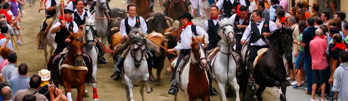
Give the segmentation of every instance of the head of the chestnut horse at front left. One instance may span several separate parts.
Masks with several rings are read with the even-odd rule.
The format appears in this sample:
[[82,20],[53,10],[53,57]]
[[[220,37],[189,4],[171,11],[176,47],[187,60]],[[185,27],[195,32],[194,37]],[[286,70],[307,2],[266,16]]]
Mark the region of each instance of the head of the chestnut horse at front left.
[[[83,32],[79,31],[77,33],[70,32],[69,39],[71,40],[69,42],[68,47],[68,55],[73,55],[74,57],[74,66],[82,66],[83,63],[83,47],[85,45],[84,40],[82,39]],[[71,64],[70,64],[71,65]]]

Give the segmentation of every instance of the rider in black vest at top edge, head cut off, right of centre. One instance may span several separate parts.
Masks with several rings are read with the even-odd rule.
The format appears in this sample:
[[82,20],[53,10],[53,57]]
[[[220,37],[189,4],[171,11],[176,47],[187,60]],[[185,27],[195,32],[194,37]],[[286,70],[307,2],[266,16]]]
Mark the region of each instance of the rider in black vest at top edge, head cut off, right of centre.
[[230,18],[232,13],[236,13],[238,5],[246,6],[246,2],[244,0],[219,0],[216,3],[219,9],[222,9],[223,6],[223,17],[225,18]]

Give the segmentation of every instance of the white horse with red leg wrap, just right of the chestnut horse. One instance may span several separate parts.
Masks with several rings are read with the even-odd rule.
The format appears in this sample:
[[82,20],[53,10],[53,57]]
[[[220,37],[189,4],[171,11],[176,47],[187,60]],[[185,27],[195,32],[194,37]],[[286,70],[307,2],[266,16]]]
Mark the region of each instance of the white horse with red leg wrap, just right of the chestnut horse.
[[[97,75],[97,56],[98,56],[98,49],[93,45],[94,38],[93,38],[93,32],[92,30],[95,29],[94,27],[94,18],[93,19],[86,19],[86,24],[83,29],[84,32],[84,40],[87,42],[87,48],[84,48],[84,52],[88,54],[92,58],[92,65],[93,65],[93,78],[96,78]],[[97,93],[97,84],[93,83],[92,88],[95,89],[95,92],[93,91],[93,95]],[[85,96],[88,96],[87,88],[85,88]],[[94,101],[99,101],[98,97],[93,96]]]

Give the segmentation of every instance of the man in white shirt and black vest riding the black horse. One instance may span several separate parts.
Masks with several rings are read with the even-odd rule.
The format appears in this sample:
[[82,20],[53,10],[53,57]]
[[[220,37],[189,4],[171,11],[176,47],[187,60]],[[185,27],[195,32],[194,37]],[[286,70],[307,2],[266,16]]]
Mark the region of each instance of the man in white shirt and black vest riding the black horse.
[[260,10],[254,10],[251,14],[253,23],[248,25],[245,29],[240,44],[244,45],[250,42],[251,48],[247,59],[247,74],[248,74],[248,86],[254,86],[253,79],[253,62],[258,55],[258,50],[262,48],[268,48],[269,45],[265,41],[265,37],[268,37],[274,30],[277,29],[276,24],[273,21],[263,19]]

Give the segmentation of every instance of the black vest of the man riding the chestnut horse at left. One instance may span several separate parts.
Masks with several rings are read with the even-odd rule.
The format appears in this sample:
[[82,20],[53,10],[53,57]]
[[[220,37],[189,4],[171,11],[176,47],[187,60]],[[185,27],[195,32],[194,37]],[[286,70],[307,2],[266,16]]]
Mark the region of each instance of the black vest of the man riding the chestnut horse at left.
[[[62,22],[62,20],[60,20],[59,22]],[[72,29],[74,28],[74,23],[70,22],[70,25],[68,28],[69,28],[69,31],[73,32]],[[64,45],[64,40],[68,38],[68,36],[70,35],[68,28],[61,28],[59,32],[56,32],[56,37],[54,39],[54,42],[60,45]]]

